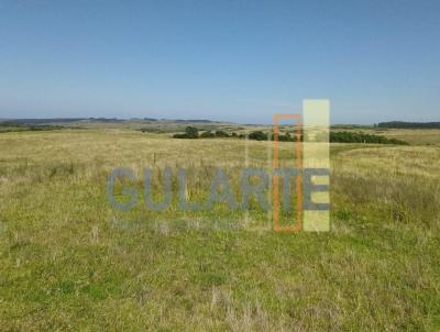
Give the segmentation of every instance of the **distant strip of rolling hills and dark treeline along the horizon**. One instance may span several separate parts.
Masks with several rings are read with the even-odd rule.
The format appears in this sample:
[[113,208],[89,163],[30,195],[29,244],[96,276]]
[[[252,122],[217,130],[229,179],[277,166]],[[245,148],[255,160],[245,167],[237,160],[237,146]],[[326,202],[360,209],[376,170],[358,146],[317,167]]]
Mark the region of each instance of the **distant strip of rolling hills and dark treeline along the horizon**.
[[[157,120],[144,119],[107,119],[107,118],[58,118],[58,119],[0,119],[0,133],[15,131],[50,131],[61,129],[124,129],[145,133],[173,134],[184,133],[188,128],[196,128],[200,134],[204,132],[226,132],[232,137],[243,137],[252,132],[272,130],[267,124],[238,124],[233,122],[219,122],[210,120]],[[285,126],[287,129],[288,126]],[[283,130],[283,126],[282,126]],[[290,132],[293,129],[290,128]],[[438,145],[440,137],[440,122],[380,122],[371,125],[334,124],[332,133],[366,134],[386,140],[397,140],[403,143],[416,145]],[[200,135],[204,139],[204,135]],[[209,136],[205,136],[209,137]],[[333,139],[333,140],[332,140]],[[359,137],[348,137],[342,143],[359,143]],[[351,140],[351,141],[350,141]],[[330,142],[339,142],[337,135],[330,136]],[[362,142],[364,140],[361,139]],[[369,142],[365,142],[369,143]],[[389,143],[393,143],[389,142]],[[398,142],[394,142],[397,143]]]

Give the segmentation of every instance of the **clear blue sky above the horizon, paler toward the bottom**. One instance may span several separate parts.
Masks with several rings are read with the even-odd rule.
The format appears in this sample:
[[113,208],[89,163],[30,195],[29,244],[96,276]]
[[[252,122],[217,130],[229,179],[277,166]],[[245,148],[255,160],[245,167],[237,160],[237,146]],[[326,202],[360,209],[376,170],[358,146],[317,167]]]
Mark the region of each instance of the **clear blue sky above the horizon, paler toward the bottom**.
[[0,118],[440,121],[440,1],[0,0]]

